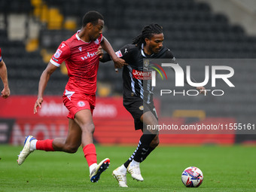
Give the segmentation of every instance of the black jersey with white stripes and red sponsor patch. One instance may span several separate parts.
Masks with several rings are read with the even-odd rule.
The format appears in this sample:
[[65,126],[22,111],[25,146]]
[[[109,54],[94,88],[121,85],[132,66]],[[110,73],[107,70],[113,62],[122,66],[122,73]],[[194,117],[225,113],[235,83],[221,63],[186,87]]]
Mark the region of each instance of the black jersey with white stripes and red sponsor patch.
[[145,67],[144,59],[171,59],[174,62],[175,57],[172,52],[162,47],[159,53],[147,55],[141,47],[126,44],[116,54],[128,64],[123,66],[123,101],[137,96],[148,104],[153,102],[154,87],[151,86],[151,75],[147,74],[148,69]]

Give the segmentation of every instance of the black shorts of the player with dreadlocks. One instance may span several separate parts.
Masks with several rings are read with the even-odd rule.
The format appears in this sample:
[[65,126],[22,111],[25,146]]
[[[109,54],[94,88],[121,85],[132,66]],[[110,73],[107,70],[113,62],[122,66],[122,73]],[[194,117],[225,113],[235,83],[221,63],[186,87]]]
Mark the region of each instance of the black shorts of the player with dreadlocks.
[[145,112],[151,111],[151,113],[154,114],[154,117],[158,120],[154,102],[151,102],[150,104],[143,103],[143,100],[140,97],[134,96],[133,99],[123,98],[123,106],[133,115],[135,130],[143,130],[143,123],[140,118]]

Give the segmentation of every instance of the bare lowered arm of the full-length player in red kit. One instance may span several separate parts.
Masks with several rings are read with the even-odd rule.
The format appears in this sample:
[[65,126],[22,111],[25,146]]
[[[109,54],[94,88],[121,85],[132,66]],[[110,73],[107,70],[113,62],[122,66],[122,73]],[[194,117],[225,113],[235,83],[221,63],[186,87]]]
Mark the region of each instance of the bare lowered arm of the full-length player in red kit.
[[41,78],[38,84],[38,99],[34,105],[34,114],[38,112],[37,108],[41,108],[41,104],[44,101],[43,94],[47,86],[47,83],[50,79],[50,75],[57,69],[57,66],[54,66],[51,62],[48,63],[47,68],[44,69],[44,72],[41,74]]

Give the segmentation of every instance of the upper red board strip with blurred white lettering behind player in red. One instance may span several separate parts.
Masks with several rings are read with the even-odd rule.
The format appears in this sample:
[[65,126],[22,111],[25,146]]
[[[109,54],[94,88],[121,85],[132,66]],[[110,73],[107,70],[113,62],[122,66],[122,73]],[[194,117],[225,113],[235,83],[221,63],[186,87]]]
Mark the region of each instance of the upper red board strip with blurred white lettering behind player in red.
[[[68,110],[62,103],[61,96],[44,96],[44,102],[38,109],[38,114],[33,113],[36,96],[11,96],[0,99],[0,117],[40,118],[40,117],[66,117]],[[97,98],[93,117],[127,117],[129,112],[123,108],[121,97]]]

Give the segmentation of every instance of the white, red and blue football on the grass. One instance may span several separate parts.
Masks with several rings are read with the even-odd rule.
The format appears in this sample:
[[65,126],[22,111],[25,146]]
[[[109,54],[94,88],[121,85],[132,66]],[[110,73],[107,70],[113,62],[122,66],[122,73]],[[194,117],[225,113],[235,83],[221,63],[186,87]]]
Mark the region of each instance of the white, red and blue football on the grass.
[[186,187],[199,187],[203,182],[203,172],[195,166],[189,166],[182,172],[181,181]]

